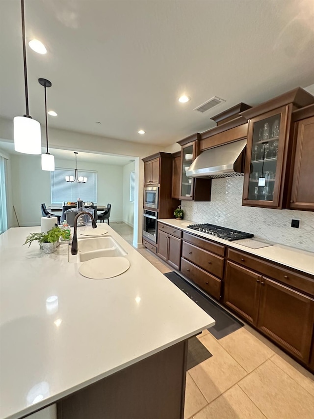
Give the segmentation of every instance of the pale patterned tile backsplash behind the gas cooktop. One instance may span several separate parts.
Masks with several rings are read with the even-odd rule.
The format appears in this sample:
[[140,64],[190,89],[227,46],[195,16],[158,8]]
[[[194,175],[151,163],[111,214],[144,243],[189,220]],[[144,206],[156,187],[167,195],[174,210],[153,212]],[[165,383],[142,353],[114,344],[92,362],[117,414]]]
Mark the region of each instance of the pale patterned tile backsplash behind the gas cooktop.
[[[243,179],[213,179],[211,202],[182,201],[184,218],[194,223],[230,227],[253,233],[256,238],[314,251],[314,212],[243,207]],[[197,205],[197,211],[194,205]],[[291,227],[292,218],[301,219],[300,228]]]

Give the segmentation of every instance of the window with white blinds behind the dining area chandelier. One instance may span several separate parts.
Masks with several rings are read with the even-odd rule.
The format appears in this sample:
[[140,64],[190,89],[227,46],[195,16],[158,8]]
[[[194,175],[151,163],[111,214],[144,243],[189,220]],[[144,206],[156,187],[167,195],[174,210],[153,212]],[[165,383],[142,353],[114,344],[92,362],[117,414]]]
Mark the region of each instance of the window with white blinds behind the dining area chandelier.
[[51,203],[75,202],[81,198],[84,202],[97,203],[97,171],[78,170],[79,176],[86,176],[86,183],[66,182],[65,176],[75,176],[74,169],[56,168],[51,172]]

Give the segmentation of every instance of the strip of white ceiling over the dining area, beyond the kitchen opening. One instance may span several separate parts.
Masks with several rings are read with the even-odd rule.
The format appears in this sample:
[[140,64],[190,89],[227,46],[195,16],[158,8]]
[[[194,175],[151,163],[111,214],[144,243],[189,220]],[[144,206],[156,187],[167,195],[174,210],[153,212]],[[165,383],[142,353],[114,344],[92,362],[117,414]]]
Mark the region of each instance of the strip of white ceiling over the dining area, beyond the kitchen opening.
[[[17,156],[25,156],[25,154],[18,153],[17,151],[14,150],[14,144],[12,142],[0,141],[0,150],[6,151],[8,154],[14,154]],[[46,153],[45,147],[42,147],[42,152]],[[74,167],[75,156],[74,156],[73,151],[50,148],[49,152],[54,155],[55,159],[73,161],[73,167]],[[134,161],[134,157],[114,156],[114,155],[95,154],[95,153],[83,153],[83,152],[78,153],[78,166],[79,166],[79,162],[100,163],[100,164],[114,165],[114,166],[125,166],[131,163],[131,161]]]

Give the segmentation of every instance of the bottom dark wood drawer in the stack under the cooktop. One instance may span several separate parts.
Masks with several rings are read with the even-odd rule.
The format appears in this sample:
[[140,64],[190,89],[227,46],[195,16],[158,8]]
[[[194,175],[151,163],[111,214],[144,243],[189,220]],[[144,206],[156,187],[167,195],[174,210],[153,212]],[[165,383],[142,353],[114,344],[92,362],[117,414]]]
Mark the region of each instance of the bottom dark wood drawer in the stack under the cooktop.
[[217,300],[220,299],[221,280],[213,277],[203,269],[181,259],[181,272],[185,277],[192,279],[200,288]]

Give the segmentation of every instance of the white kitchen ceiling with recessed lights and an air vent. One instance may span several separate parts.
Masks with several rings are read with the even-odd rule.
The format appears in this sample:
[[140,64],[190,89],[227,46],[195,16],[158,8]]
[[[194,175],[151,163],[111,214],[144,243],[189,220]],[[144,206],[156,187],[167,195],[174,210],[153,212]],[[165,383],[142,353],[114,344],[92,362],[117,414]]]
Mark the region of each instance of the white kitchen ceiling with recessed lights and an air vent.
[[[37,80],[48,78],[52,127],[167,145],[238,102],[314,83],[313,0],[25,0],[25,9],[27,41],[48,49],[27,45],[30,114],[44,121]],[[0,16],[0,115],[11,118],[25,113],[20,0],[1,0]],[[190,102],[178,102],[183,93]],[[226,102],[193,111],[214,95]]]

